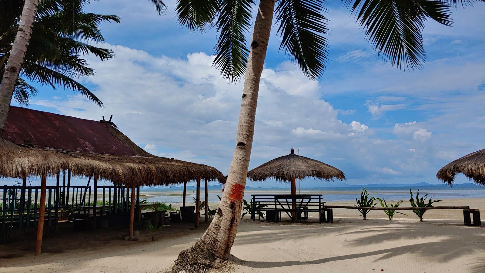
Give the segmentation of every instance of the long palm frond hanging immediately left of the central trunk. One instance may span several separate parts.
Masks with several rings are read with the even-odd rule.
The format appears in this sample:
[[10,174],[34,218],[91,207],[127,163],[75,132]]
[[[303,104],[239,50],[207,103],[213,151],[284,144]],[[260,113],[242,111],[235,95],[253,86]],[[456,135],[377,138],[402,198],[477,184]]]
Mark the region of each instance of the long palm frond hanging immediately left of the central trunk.
[[213,65],[227,80],[237,82],[246,69],[248,49],[245,34],[251,27],[253,0],[226,0],[216,22],[219,39]]

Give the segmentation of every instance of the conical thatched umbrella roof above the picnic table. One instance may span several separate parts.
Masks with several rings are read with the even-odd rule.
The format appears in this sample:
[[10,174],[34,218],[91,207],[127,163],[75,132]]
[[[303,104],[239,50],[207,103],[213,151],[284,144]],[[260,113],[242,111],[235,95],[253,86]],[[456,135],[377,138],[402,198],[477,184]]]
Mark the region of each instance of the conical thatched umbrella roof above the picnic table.
[[324,180],[345,180],[339,169],[321,161],[291,153],[270,160],[247,173],[253,181],[264,181],[268,178],[290,182],[291,178],[304,179],[307,176]]

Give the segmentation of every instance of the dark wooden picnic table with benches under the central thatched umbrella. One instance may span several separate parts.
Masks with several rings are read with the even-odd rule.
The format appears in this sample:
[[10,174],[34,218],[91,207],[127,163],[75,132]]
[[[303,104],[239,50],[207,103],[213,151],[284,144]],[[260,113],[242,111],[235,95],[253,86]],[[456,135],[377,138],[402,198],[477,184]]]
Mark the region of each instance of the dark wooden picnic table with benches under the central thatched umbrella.
[[256,208],[252,215],[253,221],[256,221],[256,212],[265,211],[266,221],[278,222],[281,220],[281,214],[286,213],[291,220],[301,222],[302,219],[308,219],[309,212],[316,212],[319,214],[319,221],[325,222],[325,202],[322,201],[322,194],[252,194],[251,196]]

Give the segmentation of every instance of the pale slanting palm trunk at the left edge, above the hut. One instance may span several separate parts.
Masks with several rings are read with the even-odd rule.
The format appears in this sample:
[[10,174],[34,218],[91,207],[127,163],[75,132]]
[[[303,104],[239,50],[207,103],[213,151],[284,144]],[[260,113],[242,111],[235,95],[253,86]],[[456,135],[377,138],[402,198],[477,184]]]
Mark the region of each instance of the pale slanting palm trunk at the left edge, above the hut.
[[29,45],[38,4],[39,0],[25,0],[17,35],[8,57],[7,67],[3,73],[0,85],[0,136],[3,136],[12,94],[14,93],[18,73],[24,62],[25,51],[27,51],[27,46]]

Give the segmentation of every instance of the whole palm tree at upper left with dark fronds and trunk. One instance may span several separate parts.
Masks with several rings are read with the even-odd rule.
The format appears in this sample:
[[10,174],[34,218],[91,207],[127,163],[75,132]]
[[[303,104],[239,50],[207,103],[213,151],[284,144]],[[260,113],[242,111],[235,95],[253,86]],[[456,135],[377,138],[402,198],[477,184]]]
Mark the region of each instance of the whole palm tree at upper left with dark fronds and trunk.
[[[162,14],[161,0],[150,0]],[[119,23],[113,15],[85,13],[90,0],[4,0],[0,2],[0,134],[14,98],[27,105],[37,90],[19,74],[41,85],[64,87],[102,106],[102,102],[73,78],[91,76],[83,54],[101,60],[114,57],[113,51],[89,43],[104,42],[99,31],[103,21]],[[22,8],[23,7],[23,8]],[[21,14],[21,15],[20,15]],[[18,30],[18,31],[17,31]],[[29,41],[30,40],[30,41]]]

